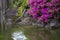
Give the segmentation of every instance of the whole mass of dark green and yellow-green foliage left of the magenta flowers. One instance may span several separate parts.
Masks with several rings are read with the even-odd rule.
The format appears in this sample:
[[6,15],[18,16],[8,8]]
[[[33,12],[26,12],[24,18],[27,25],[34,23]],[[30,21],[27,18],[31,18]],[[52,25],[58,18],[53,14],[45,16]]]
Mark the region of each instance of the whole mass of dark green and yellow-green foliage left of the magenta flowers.
[[18,9],[18,14],[17,16],[23,15],[24,9],[26,9],[27,6],[27,0],[11,0],[9,1],[10,7],[11,8],[17,8]]

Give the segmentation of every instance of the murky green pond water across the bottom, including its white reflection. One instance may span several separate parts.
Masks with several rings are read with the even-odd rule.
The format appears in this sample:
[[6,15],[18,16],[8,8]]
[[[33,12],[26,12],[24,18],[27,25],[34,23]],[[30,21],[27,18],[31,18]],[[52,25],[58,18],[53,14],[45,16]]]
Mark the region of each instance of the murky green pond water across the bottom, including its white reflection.
[[[1,29],[1,28],[0,28]],[[42,40],[41,35],[48,35],[49,40],[60,40],[60,30],[41,31],[43,29],[36,29],[35,26],[13,26],[7,28],[3,33],[0,30],[0,40]],[[41,33],[41,34],[40,34]],[[47,37],[47,38],[48,38]],[[44,38],[44,37],[43,37]]]

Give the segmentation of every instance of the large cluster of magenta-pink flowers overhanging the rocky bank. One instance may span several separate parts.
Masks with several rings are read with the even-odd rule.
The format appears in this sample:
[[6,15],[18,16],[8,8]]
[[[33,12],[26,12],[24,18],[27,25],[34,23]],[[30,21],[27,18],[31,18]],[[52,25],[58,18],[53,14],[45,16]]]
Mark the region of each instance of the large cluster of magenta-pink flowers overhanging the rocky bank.
[[48,22],[60,10],[59,0],[28,0],[28,5],[30,9],[28,9],[27,13],[40,22]]

